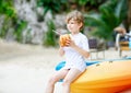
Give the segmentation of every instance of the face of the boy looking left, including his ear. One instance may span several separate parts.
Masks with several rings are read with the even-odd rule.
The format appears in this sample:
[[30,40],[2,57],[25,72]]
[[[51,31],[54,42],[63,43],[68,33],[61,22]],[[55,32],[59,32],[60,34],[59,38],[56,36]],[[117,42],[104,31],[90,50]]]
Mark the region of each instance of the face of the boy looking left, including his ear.
[[72,33],[72,34],[76,34],[80,32],[80,28],[82,26],[82,23],[78,23],[74,20],[70,20],[67,24],[68,30]]

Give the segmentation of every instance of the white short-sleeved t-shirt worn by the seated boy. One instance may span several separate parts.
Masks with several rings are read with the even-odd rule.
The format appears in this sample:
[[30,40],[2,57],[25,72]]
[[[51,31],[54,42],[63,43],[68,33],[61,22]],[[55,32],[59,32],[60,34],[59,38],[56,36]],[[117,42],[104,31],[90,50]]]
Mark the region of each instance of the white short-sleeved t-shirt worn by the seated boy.
[[[90,51],[88,39],[82,33],[76,35],[71,35],[71,39],[74,40],[75,45],[83,48],[86,51]],[[66,67],[63,69],[76,68],[80,71],[84,71],[86,68],[85,59],[76,50],[71,47],[63,47],[66,54]]]

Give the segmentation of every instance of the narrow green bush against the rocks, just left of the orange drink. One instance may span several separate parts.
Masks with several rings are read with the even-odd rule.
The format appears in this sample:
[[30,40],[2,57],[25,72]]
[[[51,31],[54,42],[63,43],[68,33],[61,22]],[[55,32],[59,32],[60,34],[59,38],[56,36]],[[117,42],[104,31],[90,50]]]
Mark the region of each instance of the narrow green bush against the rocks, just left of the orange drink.
[[45,46],[56,46],[56,34],[53,33],[52,30],[56,30],[55,27],[55,23],[52,22],[52,20],[49,20],[47,22],[47,26],[48,26],[48,31],[45,33],[44,36],[44,45]]

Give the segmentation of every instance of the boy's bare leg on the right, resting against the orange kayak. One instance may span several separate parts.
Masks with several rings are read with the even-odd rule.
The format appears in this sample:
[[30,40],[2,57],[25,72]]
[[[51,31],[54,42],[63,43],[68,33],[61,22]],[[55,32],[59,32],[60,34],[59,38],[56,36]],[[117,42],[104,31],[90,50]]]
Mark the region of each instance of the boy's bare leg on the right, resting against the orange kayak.
[[63,93],[70,93],[70,84],[81,74],[82,72],[75,68],[72,68],[63,80]]

